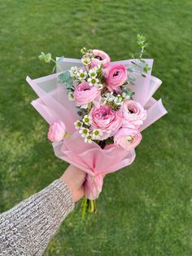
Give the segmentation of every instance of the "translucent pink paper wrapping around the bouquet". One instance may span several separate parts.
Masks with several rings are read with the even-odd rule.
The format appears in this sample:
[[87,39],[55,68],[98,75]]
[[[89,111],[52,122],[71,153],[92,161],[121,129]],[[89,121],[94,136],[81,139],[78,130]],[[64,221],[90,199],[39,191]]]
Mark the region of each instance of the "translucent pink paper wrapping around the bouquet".
[[[149,59],[146,62],[152,68],[153,60]],[[114,63],[129,67],[131,60],[121,60]],[[59,65],[62,66],[63,70],[68,70],[72,66],[82,66],[81,60],[69,58],[64,58]],[[85,196],[94,200],[102,191],[105,175],[131,165],[136,156],[135,151],[128,152],[115,145],[102,149],[97,143],[84,142],[74,126],[74,121],[79,119],[76,106],[74,102],[68,100],[65,86],[58,82],[59,70],[57,72],[33,80],[30,77],[26,78],[28,84],[39,97],[33,100],[32,105],[50,125],[55,121],[63,121],[68,133],[72,134],[71,137],[63,139],[62,142],[53,143],[55,156],[85,171],[87,174]],[[140,131],[151,126],[152,123],[167,113],[161,99],[152,98],[161,83],[158,78],[149,73],[146,77],[137,77],[135,84],[130,86],[131,90],[135,92],[133,99],[142,104],[147,111],[147,118],[140,127]]]

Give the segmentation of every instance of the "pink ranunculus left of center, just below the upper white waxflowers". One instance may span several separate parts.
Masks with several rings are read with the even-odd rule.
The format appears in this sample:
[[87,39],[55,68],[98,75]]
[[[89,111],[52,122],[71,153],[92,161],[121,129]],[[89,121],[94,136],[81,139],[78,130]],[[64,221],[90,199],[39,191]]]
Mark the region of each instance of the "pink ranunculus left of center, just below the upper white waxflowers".
[[76,105],[82,106],[89,104],[94,101],[94,99],[100,96],[100,90],[96,86],[89,86],[89,82],[82,82],[74,91],[74,99],[76,101]]

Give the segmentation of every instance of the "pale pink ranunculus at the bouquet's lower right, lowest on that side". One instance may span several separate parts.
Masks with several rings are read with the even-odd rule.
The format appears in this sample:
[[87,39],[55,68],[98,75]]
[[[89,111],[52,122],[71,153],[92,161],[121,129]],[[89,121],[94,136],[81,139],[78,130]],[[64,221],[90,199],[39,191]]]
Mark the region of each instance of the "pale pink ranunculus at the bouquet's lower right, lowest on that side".
[[114,143],[126,150],[131,150],[141,142],[142,135],[133,128],[121,128],[114,136]]

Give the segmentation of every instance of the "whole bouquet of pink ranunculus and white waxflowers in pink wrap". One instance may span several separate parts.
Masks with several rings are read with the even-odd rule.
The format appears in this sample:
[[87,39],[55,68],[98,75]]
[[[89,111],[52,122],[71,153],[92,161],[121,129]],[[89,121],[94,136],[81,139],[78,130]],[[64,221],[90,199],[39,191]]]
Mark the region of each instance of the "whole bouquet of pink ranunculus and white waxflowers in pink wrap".
[[153,60],[142,59],[148,46],[137,35],[140,48],[131,60],[111,62],[104,51],[81,49],[81,60],[51,58],[55,74],[27,82],[37,92],[34,108],[50,124],[48,139],[56,157],[86,173],[83,215],[96,211],[95,200],[106,174],[129,166],[142,130],[164,116],[161,99],[152,98],[161,81],[151,76]]

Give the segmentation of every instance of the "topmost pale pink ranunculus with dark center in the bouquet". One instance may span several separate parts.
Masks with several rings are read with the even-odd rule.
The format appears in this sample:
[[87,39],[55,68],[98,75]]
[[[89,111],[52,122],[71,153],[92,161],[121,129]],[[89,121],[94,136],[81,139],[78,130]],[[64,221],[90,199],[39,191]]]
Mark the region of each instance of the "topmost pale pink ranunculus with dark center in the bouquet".
[[93,50],[94,58],[91,60],[91,67],[103,65],[103,68],[107,68],[110,64],[110,57],[104,51]]

